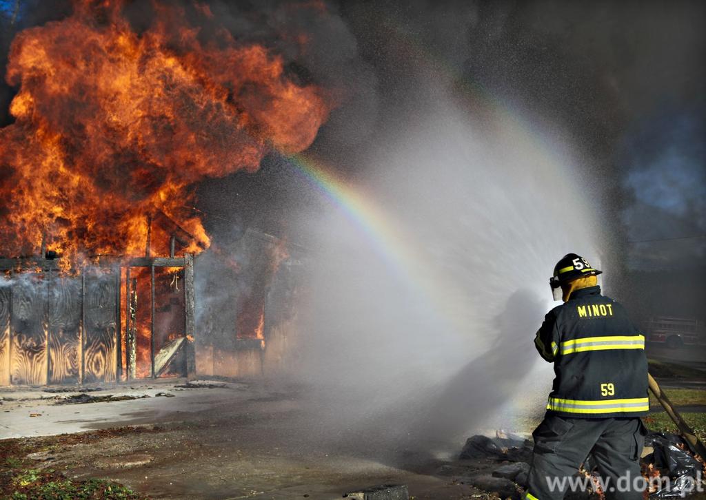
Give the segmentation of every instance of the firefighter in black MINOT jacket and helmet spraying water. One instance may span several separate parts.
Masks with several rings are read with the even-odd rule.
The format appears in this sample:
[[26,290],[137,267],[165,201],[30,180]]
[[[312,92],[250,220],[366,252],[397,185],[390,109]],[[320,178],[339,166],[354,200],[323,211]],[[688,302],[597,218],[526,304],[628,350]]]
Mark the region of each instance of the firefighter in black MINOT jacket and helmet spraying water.
[[647,430],[640,415],[650,408],[645,337],[622,305],[601,294],[598,274],[570,253],[549,281],[554,300],[564,303],[544,317],[534,345],[554,363],[556,377],[544,420],[532,432],[525,499],[563,499],[589,454],[606,499],[642,499],[639,460]]

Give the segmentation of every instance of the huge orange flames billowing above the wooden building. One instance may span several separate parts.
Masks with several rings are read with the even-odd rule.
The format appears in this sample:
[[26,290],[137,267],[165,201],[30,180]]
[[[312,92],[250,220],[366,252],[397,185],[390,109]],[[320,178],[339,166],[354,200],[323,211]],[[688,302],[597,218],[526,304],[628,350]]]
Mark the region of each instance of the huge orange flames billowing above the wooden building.
[[[159,0],[138,33],[123,6],[77,1],[70,17],[13,41],[7,80],[19,91],[16,122],[0,130],[0,255],[36,254],[42,240],[73,264],[143,255],[157,215],[190,236],[182,250],[198,252],[210,240],[185,208],[190,186],[256,171],[273,149],[305,150],[328,116],[321,91],[289,80],[265,47],[225,29],[205,36]],[[158,229],[152,249],[166,255],[169,231]]]

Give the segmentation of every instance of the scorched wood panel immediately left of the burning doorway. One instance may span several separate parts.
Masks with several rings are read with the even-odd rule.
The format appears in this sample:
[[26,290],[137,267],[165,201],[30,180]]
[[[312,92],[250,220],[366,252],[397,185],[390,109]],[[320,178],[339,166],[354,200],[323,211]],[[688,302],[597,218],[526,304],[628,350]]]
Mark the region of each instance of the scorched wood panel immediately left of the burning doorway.
[[116,372],[116,289],[112,274],[85,275],[83,382],[112,382]]

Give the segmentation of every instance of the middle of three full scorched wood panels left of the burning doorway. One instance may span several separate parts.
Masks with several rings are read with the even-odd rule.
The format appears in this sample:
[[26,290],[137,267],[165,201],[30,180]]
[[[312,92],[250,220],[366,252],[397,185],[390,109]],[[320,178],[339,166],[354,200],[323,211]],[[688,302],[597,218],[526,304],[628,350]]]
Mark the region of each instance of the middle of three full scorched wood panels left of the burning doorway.
[[80,382],[81,280],[49,281],[49,383]]

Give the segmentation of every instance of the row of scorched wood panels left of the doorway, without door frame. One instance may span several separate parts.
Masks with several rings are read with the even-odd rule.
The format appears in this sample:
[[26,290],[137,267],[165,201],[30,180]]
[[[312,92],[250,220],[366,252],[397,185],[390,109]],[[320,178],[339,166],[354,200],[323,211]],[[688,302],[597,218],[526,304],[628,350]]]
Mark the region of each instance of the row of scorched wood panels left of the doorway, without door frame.
[[0,385],[113,382],[112,272],[23,272],[0,286]]

